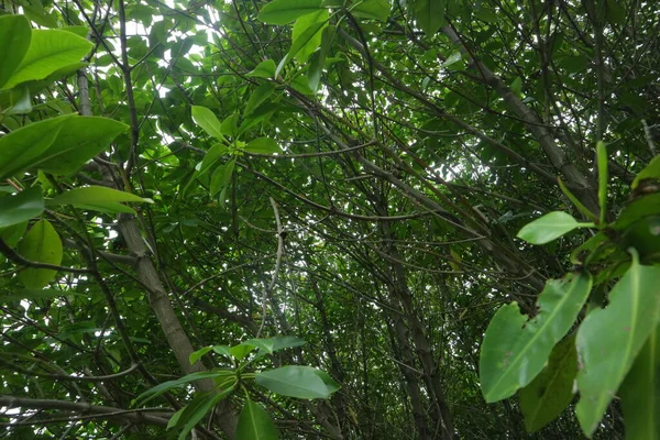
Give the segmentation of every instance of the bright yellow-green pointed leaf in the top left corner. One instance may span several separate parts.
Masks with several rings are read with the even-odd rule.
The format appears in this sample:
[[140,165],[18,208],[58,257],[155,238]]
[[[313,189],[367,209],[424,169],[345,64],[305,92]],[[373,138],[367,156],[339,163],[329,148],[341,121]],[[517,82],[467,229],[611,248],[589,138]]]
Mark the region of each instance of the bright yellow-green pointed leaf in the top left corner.
[[2,89],[44,79],[57,70],[79,63],[92,47],[91,42],[70,32],[55,29],[33,30],[28,53]]

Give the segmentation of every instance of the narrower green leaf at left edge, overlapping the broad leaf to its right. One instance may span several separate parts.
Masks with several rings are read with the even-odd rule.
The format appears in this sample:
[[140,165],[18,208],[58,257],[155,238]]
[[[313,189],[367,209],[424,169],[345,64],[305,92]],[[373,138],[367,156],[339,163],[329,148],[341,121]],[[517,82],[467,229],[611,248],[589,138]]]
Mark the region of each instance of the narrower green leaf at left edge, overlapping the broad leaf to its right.
[[53,145],[62,127],[74,116],[34,122],[0,138],[0,179],[33,166]]

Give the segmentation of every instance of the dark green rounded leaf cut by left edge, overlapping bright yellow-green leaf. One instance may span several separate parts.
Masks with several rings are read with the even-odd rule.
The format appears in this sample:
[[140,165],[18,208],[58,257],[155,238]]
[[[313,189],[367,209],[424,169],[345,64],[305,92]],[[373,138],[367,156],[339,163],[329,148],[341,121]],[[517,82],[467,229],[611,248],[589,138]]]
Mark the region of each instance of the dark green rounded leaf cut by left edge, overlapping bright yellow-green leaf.
[[30,23],[24,16],[0,16],[0,89],[21,65],[30,47]]

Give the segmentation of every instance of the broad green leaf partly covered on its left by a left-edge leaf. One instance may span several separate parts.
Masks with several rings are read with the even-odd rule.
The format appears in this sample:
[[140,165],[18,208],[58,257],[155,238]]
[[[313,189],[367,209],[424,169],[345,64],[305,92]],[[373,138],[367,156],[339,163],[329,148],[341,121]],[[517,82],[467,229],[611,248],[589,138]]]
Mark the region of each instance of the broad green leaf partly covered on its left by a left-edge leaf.
[[[29,125],[31,127],[31,125]],[[72,175],[129,127],[108,118],[67,117],[55,141],[30,164],[44,173]]]

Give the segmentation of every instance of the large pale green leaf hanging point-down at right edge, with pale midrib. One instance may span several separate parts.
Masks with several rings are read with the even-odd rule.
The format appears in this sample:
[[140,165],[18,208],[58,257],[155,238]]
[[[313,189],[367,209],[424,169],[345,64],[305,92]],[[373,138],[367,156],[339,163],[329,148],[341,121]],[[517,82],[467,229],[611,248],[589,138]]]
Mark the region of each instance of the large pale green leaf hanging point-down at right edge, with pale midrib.
[[660,319],[660,267],[632,264],[609,293],[609,305],[586,316],[578,330],[580,402],[575,415],[591,436]]

